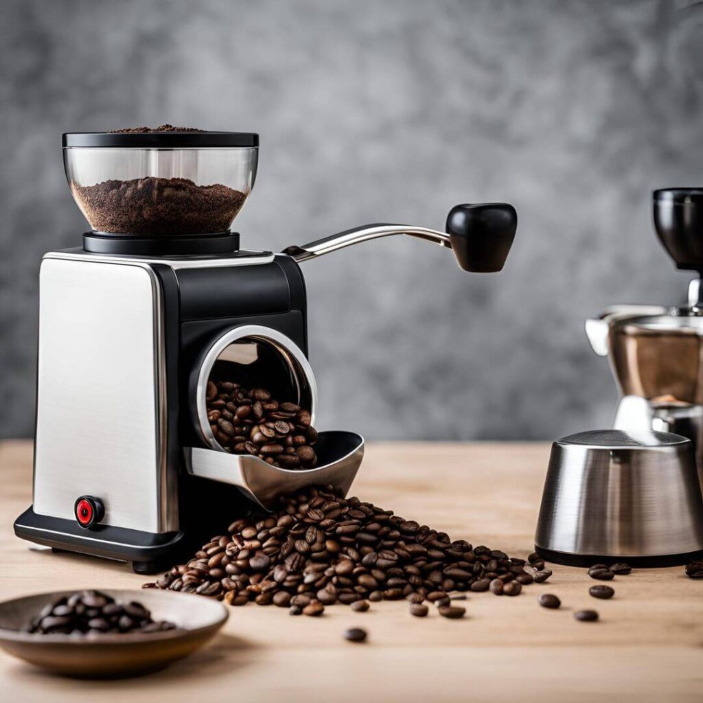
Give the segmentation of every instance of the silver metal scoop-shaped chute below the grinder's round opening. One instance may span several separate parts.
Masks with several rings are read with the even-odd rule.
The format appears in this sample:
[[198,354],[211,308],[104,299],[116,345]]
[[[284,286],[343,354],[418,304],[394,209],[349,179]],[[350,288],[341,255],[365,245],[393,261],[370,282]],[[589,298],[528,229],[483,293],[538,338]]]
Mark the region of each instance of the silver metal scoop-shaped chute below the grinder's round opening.
[[363,437],[356,432],[320,432],[315,451],[320,465],[280,469],[250,454],[186,447],[186,469],[200,478],[237,486],[251,501],[270,510],[280,496],[309,486],[331,485],[346,496],[363,459]]

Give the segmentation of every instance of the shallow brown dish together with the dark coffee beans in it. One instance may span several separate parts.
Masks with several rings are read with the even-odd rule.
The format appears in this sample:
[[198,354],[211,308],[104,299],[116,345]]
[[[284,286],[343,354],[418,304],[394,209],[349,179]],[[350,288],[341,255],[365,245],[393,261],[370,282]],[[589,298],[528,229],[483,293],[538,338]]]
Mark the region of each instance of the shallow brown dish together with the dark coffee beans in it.
[[0,602],[0,647],[67,676],[128,676],[194,652],[227,616],[217,601],[156,589],[37,593]]

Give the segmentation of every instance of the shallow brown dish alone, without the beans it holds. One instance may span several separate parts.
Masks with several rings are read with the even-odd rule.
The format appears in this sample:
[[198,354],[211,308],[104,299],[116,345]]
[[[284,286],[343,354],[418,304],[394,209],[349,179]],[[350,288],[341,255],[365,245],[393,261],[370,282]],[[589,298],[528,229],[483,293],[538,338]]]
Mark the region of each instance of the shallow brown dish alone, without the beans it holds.
[[[76,589],[80,590],[80,589]],[[46,603],[75,591],[53,591],[0,602],[0,647],[13,657],[55,673],[82,678],[114,678],[155,671],[195,652],[223,626],[226,607],[217,600],[173,591],[101,588],[117,602],[136,600],[155,620],[176,629],[155,633],[30,634],[21,632]]]

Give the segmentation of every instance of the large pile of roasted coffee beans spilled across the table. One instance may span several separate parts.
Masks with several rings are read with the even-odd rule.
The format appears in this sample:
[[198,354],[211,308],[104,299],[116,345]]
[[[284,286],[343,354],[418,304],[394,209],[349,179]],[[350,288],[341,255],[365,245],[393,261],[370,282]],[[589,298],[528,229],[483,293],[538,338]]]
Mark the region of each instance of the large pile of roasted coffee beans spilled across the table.
[[[340,498],[328,487],[281,499],[272,515],[236,520],[228,534],[213,537],[188,563],[145,586],[310,616],[334,603],[406,598],[412,614],[423,617],[425,608],[414,606],[427,600],[439,614],[456,618],[464,609],[451,605],[450,593],[489,591],[499,582],[501,595],[518,595],[534,581],[525,566],[392,510]],[[531,570],[538,566],[544,562]]]

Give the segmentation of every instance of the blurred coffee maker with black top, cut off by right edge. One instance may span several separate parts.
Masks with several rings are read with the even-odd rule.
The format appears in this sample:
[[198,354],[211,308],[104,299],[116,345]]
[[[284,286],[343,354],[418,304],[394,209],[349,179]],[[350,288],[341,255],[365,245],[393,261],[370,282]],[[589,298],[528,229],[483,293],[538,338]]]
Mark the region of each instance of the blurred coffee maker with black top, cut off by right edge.
[[688,437],[703,484],[703,188],[654,191],[653,209],[676,268],[697,272],[688,302],[607,307],[586,334],[621,389],[613,427]]

